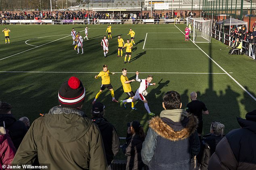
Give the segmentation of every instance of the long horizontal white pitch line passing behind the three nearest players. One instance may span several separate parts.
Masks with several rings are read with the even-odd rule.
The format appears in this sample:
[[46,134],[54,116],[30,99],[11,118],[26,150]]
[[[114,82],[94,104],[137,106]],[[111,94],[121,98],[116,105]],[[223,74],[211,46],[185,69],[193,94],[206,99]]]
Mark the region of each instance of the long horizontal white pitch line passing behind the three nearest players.
[[[0,71],[0,73],[99,73],[99,72],[18,72],[18,71]],[[122,73],[122,72],[113,72],[113,73]],[[129,72],[129,74],[135,74],[136,72]],[[141,74],[226,74],[226,73],[186,73],[186,72],[140,72]]]

